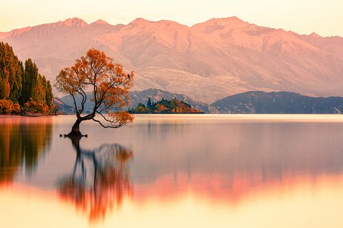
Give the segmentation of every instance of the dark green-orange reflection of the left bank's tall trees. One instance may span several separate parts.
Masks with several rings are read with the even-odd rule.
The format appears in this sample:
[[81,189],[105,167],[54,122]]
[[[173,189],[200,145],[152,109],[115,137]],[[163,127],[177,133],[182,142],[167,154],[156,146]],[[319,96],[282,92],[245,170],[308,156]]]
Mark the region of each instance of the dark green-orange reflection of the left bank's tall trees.
[[0,182],[11,182],[16,171],[31,172],[51,144],[51,119],[0,122]]

